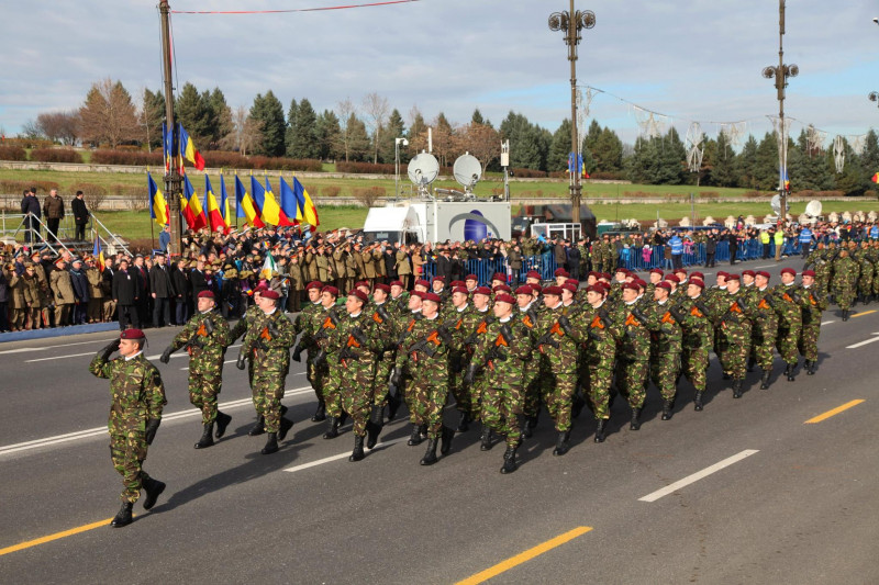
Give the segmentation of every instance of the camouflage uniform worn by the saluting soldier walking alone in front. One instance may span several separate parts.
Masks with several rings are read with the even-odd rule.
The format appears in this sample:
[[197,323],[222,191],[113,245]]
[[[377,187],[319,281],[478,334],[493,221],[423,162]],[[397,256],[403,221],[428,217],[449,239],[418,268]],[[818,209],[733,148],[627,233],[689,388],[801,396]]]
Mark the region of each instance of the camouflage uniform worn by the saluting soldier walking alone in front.
[[109,361],[99,352],[91,360],[89,372],[110,380],[110,457],[125,486],[122,500],[137,502],[143,484],[149,481],[143,470],[148,448],[146,426],[162,419],[167,404],[162,376],[143,352],[127,360],[120,357]]

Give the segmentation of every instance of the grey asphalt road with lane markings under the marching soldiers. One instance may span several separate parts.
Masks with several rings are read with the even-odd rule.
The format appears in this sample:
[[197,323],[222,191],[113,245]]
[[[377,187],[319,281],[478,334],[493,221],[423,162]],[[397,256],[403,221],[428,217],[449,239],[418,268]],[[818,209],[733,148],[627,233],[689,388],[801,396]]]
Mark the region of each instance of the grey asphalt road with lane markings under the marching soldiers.
[[[770,267],[775,283],[785,266],[802,262],[736,270]],[[448,457],[420,466],[423,445],[392,442],[409,435],[399,419],[385,428],[390,445],[349,463],[351,424],[337,439],[322,439],[297,363],[283,401],[296,426],[278,453],[259,454],[265,437],[246,435],[255,415],[233,363],[220,400],[233,417],[226,437],[194,450],[201,427],[188,402],[187,359],[157,361],[177,329],[151,330],[146,353],[156,357],[168,405],[145,469],[168,487],[152,511],[135,505],[130,527],[77,533],[66,532],[109,521],[119,509],[105,434],[109,384],[87,369],[112,335],[3,344],[0,582],[454,583],[589,527],[498,567],[491,583],[876,583],[879,390],[871,367],[879,344],[847,347],[879,337],[874,310],[858,306],[860,316],[847,323],[837,310],[824,313],[814,376],[779,379],[777,359],[769,390],[759,390],[754,372],[744,397],[733,400],[712,356],[702,413],[681,381],[676,414],[663,421],[652,387],[639,431],[628,430],[617,401],[608,440],[596,445],[585,410],[561,458],[552,455],[555,432],[544,413],[512,475],[499,473],[503,445],[481,452],[475,427],[456,436]],[[865,402],[804,424],[854,400]],[[446,413],[447,423],[457,420],[454,409]],[[668,495],[641,499],[736,454]]]

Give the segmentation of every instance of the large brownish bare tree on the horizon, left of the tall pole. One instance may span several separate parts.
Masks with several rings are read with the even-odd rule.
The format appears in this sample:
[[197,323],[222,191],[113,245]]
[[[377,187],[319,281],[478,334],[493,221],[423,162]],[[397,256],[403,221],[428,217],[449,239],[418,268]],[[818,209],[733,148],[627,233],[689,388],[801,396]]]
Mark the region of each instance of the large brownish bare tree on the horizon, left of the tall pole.
[[91,86],[79,109],[82,138],[107,142],[112,148],[137,138],[138,124],[131,94],[122,82],[108,77]]

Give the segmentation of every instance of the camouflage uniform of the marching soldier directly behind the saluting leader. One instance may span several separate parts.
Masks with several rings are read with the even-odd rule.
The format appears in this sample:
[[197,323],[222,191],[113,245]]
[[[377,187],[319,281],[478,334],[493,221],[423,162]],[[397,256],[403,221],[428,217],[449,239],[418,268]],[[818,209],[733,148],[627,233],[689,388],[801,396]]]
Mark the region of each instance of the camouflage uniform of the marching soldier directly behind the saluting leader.
[[223,360],[230,344],[229,323],[215,311],[196,313],[171,341],[170,352],[187,346],[189,402],[201,410],[202,425],[216,419],[216,396],[223,383]]

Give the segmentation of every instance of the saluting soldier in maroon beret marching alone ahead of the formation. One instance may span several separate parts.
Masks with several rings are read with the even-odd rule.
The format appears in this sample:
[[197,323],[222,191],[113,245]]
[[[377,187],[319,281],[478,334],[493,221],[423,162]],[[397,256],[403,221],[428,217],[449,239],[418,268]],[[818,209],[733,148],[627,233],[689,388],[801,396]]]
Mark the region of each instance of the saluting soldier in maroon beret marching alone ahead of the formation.
[[[165,386],[155,365],[143,355],[146,336],[140,329],[125,329],[120,338],[94,356],[89,372],[110,380],[110,455],[122,475],[122,507],[110,526],[121,528],[132,522],[132,507],[146,492],[144,509],[151,509],[165,484],[144,470],[146,452],[162,423],[162,409],[167,404]],[[110,356],[119,350],[120,357]]]

